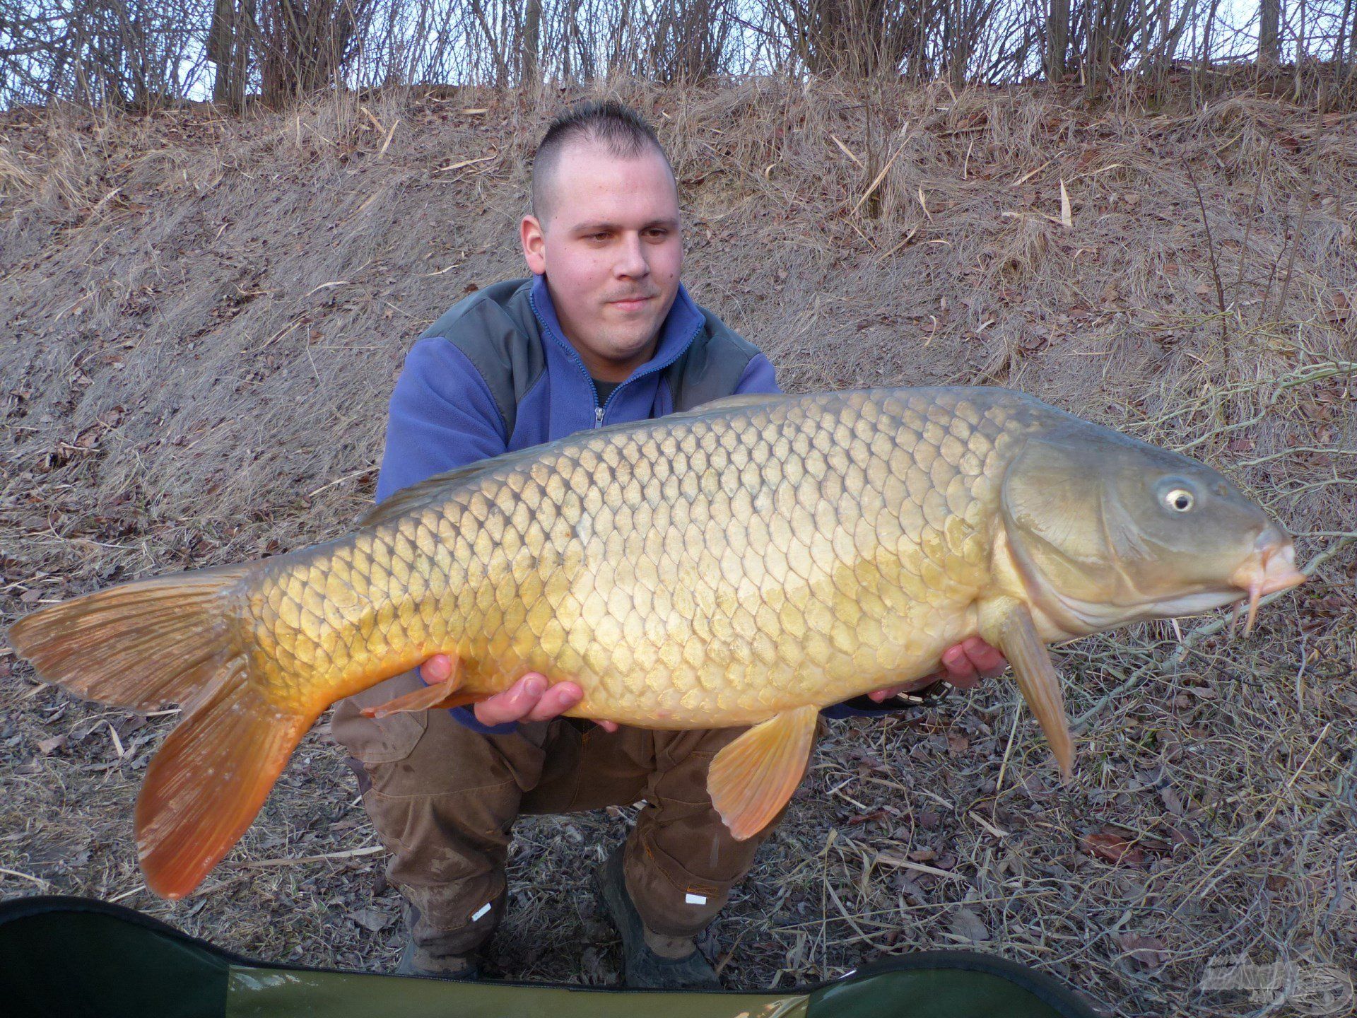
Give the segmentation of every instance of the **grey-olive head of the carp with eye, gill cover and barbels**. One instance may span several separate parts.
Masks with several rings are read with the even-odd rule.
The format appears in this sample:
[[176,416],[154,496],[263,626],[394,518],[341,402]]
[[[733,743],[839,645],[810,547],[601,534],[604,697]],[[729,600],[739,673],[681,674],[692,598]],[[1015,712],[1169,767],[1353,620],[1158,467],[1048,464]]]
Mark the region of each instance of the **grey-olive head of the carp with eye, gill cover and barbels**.
[[1029,440],[1003,485],[1014,561],[1071,635],[1193,615],[1304,581],[1291,538],[1228,478],[1091,425]]

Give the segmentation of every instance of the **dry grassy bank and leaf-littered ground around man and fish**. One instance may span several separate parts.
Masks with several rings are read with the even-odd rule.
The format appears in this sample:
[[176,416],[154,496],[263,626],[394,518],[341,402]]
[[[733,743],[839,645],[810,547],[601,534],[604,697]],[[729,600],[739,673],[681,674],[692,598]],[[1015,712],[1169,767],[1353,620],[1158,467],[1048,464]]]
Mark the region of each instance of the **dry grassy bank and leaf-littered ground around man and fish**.
[[[1148,115],[1134,95],[1084,109],[1053,90],[616,88],[672,145],[689,286],[784,385],[1031,391],[1227,470],[1315,571],[1247,641],[1194,619],[1064,652],[1083,725],[1071,789],[1006,683],[835,725],[711,931],[727,980],[976,943],[1121,1015],[1210,1015],[1261,1006],[1201,991],[1212,957],[1350,966],[1357,118],[1251,98]],[[3,620],[343,532],[413,337],[522,271],[525,153],[558,99],[11,114]],[[323,728],[229,861],[171,905],[140,886],[130,804],[172,718],[73,702],[0,657],[11,671],[0,892],[122,900],[274,960],[389,964],[395,892]],[[623,829],[520,825],[505,970],[613,973],[588,873]],[[261,865],[299,856],[322,858]]]

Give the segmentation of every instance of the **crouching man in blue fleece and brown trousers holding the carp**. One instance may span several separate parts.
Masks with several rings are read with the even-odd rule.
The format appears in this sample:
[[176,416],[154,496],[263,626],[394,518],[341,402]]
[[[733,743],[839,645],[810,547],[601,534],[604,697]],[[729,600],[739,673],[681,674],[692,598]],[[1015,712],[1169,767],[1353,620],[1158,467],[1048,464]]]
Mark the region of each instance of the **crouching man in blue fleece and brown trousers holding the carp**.
[[[379,501],[440,471],[581,429],[778,391],[768,360],[680,285],[673,171],[630,110],[589,105],[551,125],[520,232],[533,278],[463,300],[411,349],[391,399]],[[978,639],[951,647],[944,662],[962,687],[977,671],[1003,668]],[[441,681],[451,665],[436,657],[335,710],[335,737],[361,763],[364,805],[392,852],[388,877],[407,900],[410,941],[398,970],[478,973],[476,951],[503,912],[518,814],[645,799],[598,877],[623,938],[626,981],[716,987],[693,937],[768,833],[735,842],[707,797],[707,764],[741,730],[649,732],[562,718],[579,687],[540,675],[474,710],[358,714]],[[898,692],[829,713],[879,713]]]

